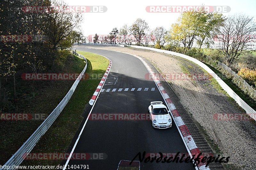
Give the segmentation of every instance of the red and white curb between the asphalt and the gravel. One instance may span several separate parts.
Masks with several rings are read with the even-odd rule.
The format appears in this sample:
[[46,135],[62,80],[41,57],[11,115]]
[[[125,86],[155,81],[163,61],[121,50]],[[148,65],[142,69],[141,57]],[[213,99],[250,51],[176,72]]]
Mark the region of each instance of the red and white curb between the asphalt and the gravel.
[[[158,86],[159,90],[161,91],[161,93],[162,93],[162,95],[164,97],[164,100],[168,104],[168,107],[170,108],[170,110],[172,112],[174,121],[176,122],[177,126],[180,129],[181,135],[183,136],[183,139],[184,139],[185,143],[187,144],[187,147],[188,147],[189,151],[191,152],[191,155],[196,155],[196,157],[197,157],[197,155],[199,155],[200,151],[197,148],[194,139],[190,135],[187,126],[185,125],[185,123],[183,122],[182,118],[180,117],[180,114],[179,114],[178,110],[176,109],[176,107],[174,106],[172,100],[170,99],[170,97],[168,96],[166,91],[164,90],[164,87],[161,85],[159,79],[156,78],[156,76],[154,76],[154,74],[156,74],[156,73],[153,72],[153,70],[149,67],[149,65],[143,59],[141,59],[139,56],[137,56],[137,55],[133,55],[133,56],[139,58],[140,61],[148,69],[149,73],[151,74],[151,77],[154,79],[154,81],[156,82],[156,85]],[[164,78],[163,78],[163,80],[165,81]],[[201,159],[202,158],[203,158],[203,156],[201,156]],[[210,170],[210,168],[208,166],[206,167],[206,163],[201,163],[200,162],[197,165],[197,167],[198,167],[199,170]]]

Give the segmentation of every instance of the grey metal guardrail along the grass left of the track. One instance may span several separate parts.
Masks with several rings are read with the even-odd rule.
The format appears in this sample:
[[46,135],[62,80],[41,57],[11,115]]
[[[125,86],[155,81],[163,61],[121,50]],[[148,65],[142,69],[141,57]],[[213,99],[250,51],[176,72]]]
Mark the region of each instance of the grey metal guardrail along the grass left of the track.
[[[44,122],[36,129],[36,131],[28,138],[28,140],[20,147],[20,149],[12,155],[12,157],[4,164],[1,170],[9,170],[16,169],[15,166],[19,166],[21,162],[26,158],[27,154],[31,152],[39,139],[44,135],[44,133],[51,127],[52,123],[56,120],[56,118],[60,115],[60,112],[67,105],[71,96],[73,95],[76,86],[79,81],[83,77],[86,69],[87,69],[87,60],[83,55],[74,53],[86,61],[84,70],[80,73],[78,78],[75,80],[74,84],[71,86],[70,90],[66,94],[66,96],[60,101],[58,106],[52,111],[52,113],[44,120]],[[11,168],[7,168],[10,166]],[[5,168],[4,168],[5,167]]]

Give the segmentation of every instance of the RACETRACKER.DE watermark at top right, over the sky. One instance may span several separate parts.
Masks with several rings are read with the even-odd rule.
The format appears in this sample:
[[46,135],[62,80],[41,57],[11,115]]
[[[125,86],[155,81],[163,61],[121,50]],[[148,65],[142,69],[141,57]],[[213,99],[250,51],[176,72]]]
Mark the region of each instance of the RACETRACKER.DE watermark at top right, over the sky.
[[230,12],[229,6],[147,6],[147,12],[153,13],[183,13],[186,11],[199,11],[204,8],[206,12]]

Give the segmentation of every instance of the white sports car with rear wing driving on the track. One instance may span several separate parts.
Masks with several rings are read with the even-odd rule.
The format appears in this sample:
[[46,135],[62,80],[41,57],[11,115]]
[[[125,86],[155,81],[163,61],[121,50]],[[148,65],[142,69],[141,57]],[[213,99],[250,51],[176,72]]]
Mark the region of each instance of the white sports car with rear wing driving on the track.
[[148,114],[153,128],[167,129],[172,127],[172,117],[162,101],[152,101],[148,107]]

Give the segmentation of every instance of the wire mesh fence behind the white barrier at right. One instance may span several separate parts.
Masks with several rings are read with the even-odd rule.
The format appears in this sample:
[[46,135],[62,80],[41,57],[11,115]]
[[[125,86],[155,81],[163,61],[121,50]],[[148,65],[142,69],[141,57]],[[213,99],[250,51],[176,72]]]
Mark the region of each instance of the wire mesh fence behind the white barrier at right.
[[251,85],[249,85],[243,78],[236,74],[233,70],[231,70],[227,65],[218,62],[218,65],[225,69],[233,78],[236,79],[236,85],[238,85],[244,92],[249,94],[252,99],[256,100],[256,90],[253,89]]

